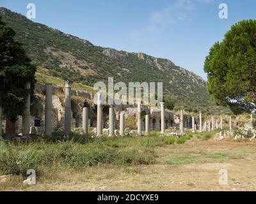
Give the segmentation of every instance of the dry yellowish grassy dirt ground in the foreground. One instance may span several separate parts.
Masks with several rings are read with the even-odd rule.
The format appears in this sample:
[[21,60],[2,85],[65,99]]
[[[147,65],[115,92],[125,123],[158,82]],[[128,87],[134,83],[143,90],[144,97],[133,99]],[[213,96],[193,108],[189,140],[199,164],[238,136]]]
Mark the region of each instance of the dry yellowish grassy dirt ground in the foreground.
[[[157,163],[140,166],[97,166],[83,172],[52,170],[22,191],[255,191],[256,143],[234,140],[190,140],[158,147]],[[219,183],[219,171],[228,184]]]

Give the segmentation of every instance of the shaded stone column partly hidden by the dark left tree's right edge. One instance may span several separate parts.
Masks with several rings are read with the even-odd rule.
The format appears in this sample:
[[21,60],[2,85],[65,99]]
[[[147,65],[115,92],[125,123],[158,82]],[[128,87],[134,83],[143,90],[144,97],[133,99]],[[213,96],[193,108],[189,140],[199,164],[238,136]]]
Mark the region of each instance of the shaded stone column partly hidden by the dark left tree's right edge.
[[[30,82],[25,85],[25,89],[30,91]],[[29,135],[30,130],[30,93],[26,98],[26,105],[22,115],[22,135]]]

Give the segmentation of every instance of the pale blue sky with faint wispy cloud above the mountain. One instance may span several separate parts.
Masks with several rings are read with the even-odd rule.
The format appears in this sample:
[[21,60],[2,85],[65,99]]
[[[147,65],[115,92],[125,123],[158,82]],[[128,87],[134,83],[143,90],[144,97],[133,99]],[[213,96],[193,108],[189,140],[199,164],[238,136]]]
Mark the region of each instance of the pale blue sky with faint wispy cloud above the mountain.
[[[205,79],[209,48],[232,24],[256,15],[255,0],[0,0],[23,15],[28,3],[36,5],[35,22],[94,45],[170,59]],[[218,17],[220,3],[228,19]]]

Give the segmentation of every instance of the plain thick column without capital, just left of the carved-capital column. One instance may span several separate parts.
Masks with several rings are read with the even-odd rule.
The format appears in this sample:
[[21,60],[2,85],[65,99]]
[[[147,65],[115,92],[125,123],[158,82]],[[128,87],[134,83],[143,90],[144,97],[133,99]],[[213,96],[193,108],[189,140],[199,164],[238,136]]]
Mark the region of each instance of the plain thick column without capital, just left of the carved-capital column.
[[52,84],[45,84],[45,137],[52,136]]

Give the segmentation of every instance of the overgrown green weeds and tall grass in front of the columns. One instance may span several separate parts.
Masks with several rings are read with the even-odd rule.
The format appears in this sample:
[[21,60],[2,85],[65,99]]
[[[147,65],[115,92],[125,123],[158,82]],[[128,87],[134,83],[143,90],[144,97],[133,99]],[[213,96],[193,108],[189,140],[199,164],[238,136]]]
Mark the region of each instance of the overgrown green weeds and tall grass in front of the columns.
[[19,145],[0,140],[0,175],[26,175],[31,168],[40,175],[44,168],[52,165],[82,170],[98,164],[152,164],[156,163],[156,147],[180,144],[189,139],[189,136],[178,139],[159,137],[153,132],[145,137],[113,138],[54,135],[52,141]]

